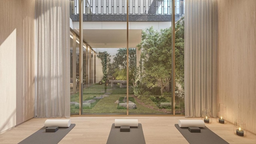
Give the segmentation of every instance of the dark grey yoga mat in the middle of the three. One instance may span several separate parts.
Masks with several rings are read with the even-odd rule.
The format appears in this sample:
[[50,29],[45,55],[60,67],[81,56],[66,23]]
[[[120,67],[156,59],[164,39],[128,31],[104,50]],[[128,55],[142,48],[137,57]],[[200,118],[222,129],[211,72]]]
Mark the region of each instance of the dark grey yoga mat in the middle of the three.
[[112,124],[107,144],[146,144],[142,125],[130,127],[130,132],[120,132],[120,127]]

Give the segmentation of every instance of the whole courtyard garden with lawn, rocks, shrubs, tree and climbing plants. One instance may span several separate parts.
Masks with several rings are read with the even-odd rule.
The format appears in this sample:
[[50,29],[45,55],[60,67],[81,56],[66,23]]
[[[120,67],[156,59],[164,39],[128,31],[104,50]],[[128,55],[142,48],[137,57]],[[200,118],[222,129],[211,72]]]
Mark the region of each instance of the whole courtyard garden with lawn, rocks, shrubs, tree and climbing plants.
[[[175,27],[175,114],[184,114],[184,17]],[[129,106],[129,114],[173,114],[171,39],[171,27],[160,31],[149,27],[142,30],[137,48],[128,48],[128,55],[126,48],[118,48],[115,54],[99,50],[102,80],[83,89],[82,113],[126,114]],[[128,104],[126,87],[106,85],[109,80],[128,82]],[[71,114],[79,114],[78,93],[70,100]]]

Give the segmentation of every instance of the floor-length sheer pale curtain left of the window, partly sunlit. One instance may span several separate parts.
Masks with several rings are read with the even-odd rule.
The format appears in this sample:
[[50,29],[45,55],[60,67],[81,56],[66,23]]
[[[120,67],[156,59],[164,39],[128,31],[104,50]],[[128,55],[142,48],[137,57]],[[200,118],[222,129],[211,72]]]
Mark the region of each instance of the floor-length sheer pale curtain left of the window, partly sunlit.
[[70,117],[69,0],[36,0],[36,116]]

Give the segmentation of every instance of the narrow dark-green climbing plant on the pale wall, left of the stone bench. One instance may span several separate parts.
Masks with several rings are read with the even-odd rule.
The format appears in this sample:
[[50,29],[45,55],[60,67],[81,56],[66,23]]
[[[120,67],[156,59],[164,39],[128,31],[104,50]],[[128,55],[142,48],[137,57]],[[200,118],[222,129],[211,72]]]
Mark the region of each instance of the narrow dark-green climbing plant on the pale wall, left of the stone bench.
[[100,58],[101,64],[102,64],[102,72],[103,72],[103,78],[102,78],[102,83],[104,84],[107,80],[108,76],[108,64],[110,63],[110,54],[108,52],[99,52],[97,54],[97,57]]

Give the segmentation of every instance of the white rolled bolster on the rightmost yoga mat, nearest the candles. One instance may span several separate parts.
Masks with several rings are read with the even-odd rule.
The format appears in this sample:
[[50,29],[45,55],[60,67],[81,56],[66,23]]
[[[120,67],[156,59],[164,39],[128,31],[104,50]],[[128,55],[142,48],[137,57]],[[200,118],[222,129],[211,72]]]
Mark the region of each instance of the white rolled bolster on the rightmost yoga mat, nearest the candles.
[[204,128],[205,124],[203,120],[178,120],[178,125],[181,128],[188,128],[190,126],[195,126],[198,128]]

